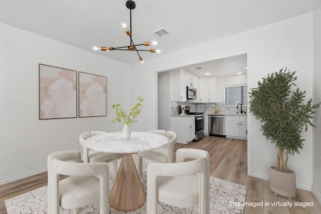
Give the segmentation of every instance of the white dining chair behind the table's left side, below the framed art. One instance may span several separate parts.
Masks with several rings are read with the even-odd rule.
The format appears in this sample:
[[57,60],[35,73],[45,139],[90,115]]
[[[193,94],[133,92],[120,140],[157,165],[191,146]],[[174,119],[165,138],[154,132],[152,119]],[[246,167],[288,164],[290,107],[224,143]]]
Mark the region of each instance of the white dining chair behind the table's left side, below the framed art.
[[85,141],[89,137],[96,136],[98,134],[105,134],[107,132],[104,131],[91,131],[91,132],[83,132],[79,136],[79,142],[83,149],[83,161],[84,163],[96,163],[96,162],[105,162],[112,159],[112,175],[115,177],[117,174],[117,154],[115,153],[107,153],[96,151],[88,148],[85,145]]

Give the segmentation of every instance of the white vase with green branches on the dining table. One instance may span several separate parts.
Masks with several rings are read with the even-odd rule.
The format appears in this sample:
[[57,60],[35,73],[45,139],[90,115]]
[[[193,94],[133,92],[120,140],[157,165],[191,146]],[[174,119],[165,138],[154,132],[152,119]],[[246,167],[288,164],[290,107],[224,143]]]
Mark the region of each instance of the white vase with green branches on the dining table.
[[116,117],[114,119],[112,119],[111,122],[115,123],[115,122],[121,122],[122,120],[124,121],[124,128],[122,130],[122,136],[126,140],[130,138],[129,126],[132,123],[137,122],[136,117],[138,116],[138,114],[141,111],[140,107],[142,107],[142,101],[144,101],[144,99],[141,98],[140,96],[138,96],[138,102],[136,103],[136,105],[134,105],[133,107],[131,107],[129,109],[128,114],[126,111],[124,111],[121,108],[121,105],[119,103],[112,105],[113,109],[116,108],[116,110],[115,110]]

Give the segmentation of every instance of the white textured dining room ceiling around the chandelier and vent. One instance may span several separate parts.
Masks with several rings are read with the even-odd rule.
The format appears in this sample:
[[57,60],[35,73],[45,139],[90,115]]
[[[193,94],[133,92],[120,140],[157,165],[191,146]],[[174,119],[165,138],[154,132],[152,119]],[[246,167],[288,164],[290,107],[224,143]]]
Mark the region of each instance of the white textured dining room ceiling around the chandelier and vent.
[[[0,0],[0,22],[87,51],[94,45],[129,45],[120,27],[129,24],[125,0]],[[139,44],[157,40],[168,54],[228,35],[312,12],[321,0],[134,0],[132,39]],[[157,38],[152,32],[170,33]],[[45,48],[45,47],[44,47]],[[48,50],[50,51],[50,50]],[[95,52],[128,64],[134,52]],[[159,56],[140,52],[146,61]],[[205,65],[204,65],[205,67]]]

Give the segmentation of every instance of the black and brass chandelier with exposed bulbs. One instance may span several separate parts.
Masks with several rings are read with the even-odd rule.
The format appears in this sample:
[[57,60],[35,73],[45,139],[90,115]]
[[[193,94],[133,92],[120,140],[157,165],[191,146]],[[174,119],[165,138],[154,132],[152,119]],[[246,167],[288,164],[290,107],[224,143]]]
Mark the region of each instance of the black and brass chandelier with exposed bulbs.
[[121,27],[125,30],[125,33],[129,36],[130,39],[130,45],[128,46],[122,46],[122,47],[100,47],[98,48],[97,46],[94,46],[92,48],[93,51],[113,51],[113,50],[119,50],[119,51],[136,51],[136,53],[138,54],[139,60],[141,63],[143,63],[144,61],[142,60],[142,57],[139,55],[138,51],[149,51],[151,53],[160,53],[160,50],[155,50],[155,49],[149,49],[149,50],[138,50],[136,47],[137,46],[156,46],[157,42],[156,41],[152,41],[152,42],[144,42],[143,44],[139,44],[139,45],[135,45],[134,42],[132,41],[132,33],[131,33],[131,10],[136,8],[136,4],[133,1],[127,1],[126,2],[126,8],[128,8],[130,10],[130,29],[128,29],[127,24],[125,22],[121,23]]

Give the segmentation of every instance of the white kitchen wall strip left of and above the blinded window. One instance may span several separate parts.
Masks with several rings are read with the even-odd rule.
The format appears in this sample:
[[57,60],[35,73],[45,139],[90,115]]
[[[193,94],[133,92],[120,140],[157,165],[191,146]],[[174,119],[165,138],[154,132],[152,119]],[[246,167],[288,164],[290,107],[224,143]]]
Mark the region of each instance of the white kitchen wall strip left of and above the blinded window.
[[225,86],[233,85],[246,85],[247,84],[247,75],[233,75],[226,77],[218,77],[216,79],[216,88],[217,88],[217,102],[225,102]]

